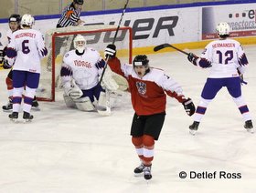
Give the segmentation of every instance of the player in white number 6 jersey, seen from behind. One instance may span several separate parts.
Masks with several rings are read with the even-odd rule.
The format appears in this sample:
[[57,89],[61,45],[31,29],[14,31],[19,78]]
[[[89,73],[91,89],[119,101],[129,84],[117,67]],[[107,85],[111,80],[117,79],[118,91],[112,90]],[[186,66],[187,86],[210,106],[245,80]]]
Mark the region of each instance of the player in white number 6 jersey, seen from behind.
[[13,33],[11,42],[6,49],[5,66],[13,66],[13,113],[9,117],[16,121],[22,101],[24,86],[23,118],[25,121],[33,118],[30,115],[32,101],[36,93],[40,77],[40,59],[47,56],[42,34],[32,29],[34,17],[23,15],[21,18],[21,30]]

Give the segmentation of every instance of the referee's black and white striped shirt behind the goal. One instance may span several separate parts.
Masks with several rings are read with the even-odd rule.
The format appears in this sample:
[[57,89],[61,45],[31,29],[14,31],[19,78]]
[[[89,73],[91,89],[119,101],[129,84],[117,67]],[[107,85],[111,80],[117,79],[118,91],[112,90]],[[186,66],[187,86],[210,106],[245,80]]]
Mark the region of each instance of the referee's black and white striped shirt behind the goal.
[[65,7],[63,10],[61,17],[59,18],[59,22],[57,27],[66,27],[70,25],[78,25],[77,22],[80,20],[80,10],[75,9],[73,3]]

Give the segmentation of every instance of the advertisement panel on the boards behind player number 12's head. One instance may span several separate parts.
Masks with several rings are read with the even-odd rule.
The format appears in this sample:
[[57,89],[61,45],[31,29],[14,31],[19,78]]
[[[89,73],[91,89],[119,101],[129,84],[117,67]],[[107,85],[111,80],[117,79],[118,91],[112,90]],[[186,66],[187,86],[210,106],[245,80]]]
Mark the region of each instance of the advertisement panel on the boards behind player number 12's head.
[[217,38],[215,27],[227,22],[231,37],[256,35],[256,4],[202,7],[202,39]]

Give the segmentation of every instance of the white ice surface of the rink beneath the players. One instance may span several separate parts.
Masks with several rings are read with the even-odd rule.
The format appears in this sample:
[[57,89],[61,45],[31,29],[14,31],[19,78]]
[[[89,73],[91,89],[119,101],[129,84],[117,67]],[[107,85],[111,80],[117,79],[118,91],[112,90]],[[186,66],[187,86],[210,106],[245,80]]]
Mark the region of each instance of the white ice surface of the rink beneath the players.
[[[242,94],[255,127],[256,48],[244,49],[250,66]],[[199,55],[201,49],[193,52]],[[191,65],[178,52],[148,57],[151,66],[165,69],[197,105],[208,69]],[[7,73],[0,71],[1,107],[7,100]],[[41,111],[31,112],[35,119],[29,124],[15,124],[1,111],[1,193],[256,192],[256,134],[243,128],[226,88],[208,106],[196,136],[188,133],[193,117],[175,98],[167,98],[165,125],[155,143],[153,178],[148,183],[133,176],[140,162],[130,137],[130,95],[123,94],[110,117],[68,109],[61,96],[59,92],[53,103],[40,102]],[[179,177],[183,171],[187,178]],[[219,177],[223,172],[227,178]]]

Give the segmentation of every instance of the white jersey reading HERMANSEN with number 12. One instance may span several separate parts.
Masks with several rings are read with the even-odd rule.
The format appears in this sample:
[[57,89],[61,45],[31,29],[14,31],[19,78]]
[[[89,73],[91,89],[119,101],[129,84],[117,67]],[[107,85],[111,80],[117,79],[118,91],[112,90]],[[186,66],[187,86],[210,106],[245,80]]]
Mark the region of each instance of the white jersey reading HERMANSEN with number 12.
[[221,39],[212,41],[206,46],[197,66],[210,67],[211,78],[234,77],[244,73],[248,60],[240,46],[234,39]]

